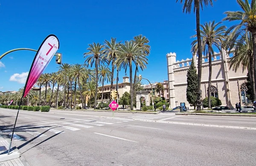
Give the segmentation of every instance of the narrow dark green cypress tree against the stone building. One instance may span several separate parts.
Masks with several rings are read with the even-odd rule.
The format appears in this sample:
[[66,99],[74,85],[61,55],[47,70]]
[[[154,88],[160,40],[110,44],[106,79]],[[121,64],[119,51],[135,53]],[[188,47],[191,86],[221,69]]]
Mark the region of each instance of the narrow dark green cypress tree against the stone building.
[[197,99],[197,87],[198,87],[198,75],[195,69],[194,59],[192,59],[191,65],[187,73],[187,89],[186,89],[186,99],[189,104],[196,106]]

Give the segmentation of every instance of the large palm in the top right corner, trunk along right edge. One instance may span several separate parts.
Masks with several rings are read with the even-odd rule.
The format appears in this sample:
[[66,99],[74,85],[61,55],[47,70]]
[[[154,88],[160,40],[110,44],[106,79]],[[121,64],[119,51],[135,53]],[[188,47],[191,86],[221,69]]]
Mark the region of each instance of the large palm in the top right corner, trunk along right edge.
[[256,86],[256,1],[251,0],[251,4],[248,0],[236,0],[236,2],[242,11],[226,11],[224,14],[227,14],[227,17],[223,20],[241,22],[231,26],[227,30],[226,35],[232,36],[233,39],[231,41],[234,42],[241,37],[240,34],[244,31],[251,32],[253,39],[254,86]]

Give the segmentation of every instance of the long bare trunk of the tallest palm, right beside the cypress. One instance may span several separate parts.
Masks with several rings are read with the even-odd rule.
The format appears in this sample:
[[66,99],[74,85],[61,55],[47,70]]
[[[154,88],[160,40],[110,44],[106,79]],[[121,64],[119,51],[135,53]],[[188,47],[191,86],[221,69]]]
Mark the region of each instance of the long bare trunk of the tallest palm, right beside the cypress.
[[[195,0],[196,6],[196,34],[198,40],[198,95],[197,95],[197,109],[201,110],[202,100],[201,100],[201,76],[202,76],[202,44],[201,44],[201,34],[200,34],[200,3],[199,0]],[[256,55],[255,55],[256,56]],[[255,57],[256,58],[256,57]]]

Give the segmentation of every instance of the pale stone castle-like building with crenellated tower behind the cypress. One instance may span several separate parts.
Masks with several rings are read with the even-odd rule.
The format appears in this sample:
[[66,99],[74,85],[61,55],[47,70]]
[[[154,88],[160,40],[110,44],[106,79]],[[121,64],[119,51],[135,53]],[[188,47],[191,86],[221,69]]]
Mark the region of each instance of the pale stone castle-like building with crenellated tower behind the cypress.
[[[247,70],[242,71],[239,68],[236,72],[229,69],[228,60],[233,54],[228,54],[222,50],[222,53],[212,55],[212,85],[210,87],[211,96],[215,96],[221,100],[223,106],[235,106],[236,102],[241,102],[242,105],[249,105],[251,101],[246,98],[246,90],[244,82],[247,79]],[[180,105],[180,102],[185,102],[186,106],[190,104],[186,100],[186,74],[192,59],[176,61],[176,53],[168,53],[167,70],[169,80],[169,101],[170,108]],[[193,56],[195,66],[198,68],[198,56]],[[209,62],[208,56],[202,57],[202,78],[201,90],[202,99],[207,97],[209,79]],[[176,103],[176,104],[175,104]]]

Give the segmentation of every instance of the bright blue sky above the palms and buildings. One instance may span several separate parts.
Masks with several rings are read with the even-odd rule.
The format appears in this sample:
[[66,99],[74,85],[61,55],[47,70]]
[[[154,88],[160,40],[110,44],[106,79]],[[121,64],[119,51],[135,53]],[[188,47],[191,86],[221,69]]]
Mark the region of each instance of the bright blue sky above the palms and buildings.
[[[166,54],[177,60],[191,58],[190,37],[195,34],[195,14],[184,14],[176,0],[6,0],[0,2],[0,54],[14,48],[38,49],[49,34],[60,41],[63,63],[84,63],[88,44],[119,41],[142,34],[150,41],[147,69],[139,71],[151,82],[167,80]],[[225,11],[240,10],[235,0],[218,0],[201,11],[201,24],[221,21]],[[228,27],[233,23],[224,22]],[[0,61],[0,91],[24,86],[35,52],[17,51]],[[58,70],[55,60],[45,72]],[[128,73],[127,73],[128,74]],[[119,74],[124,76],[124,70]],[[116,73],[115,75],[116,76]],[[12,81],[10,81],[10,79]],[[25,80],[25,81],[24,81]],[[147,82],[143,82],[147,84]]]

